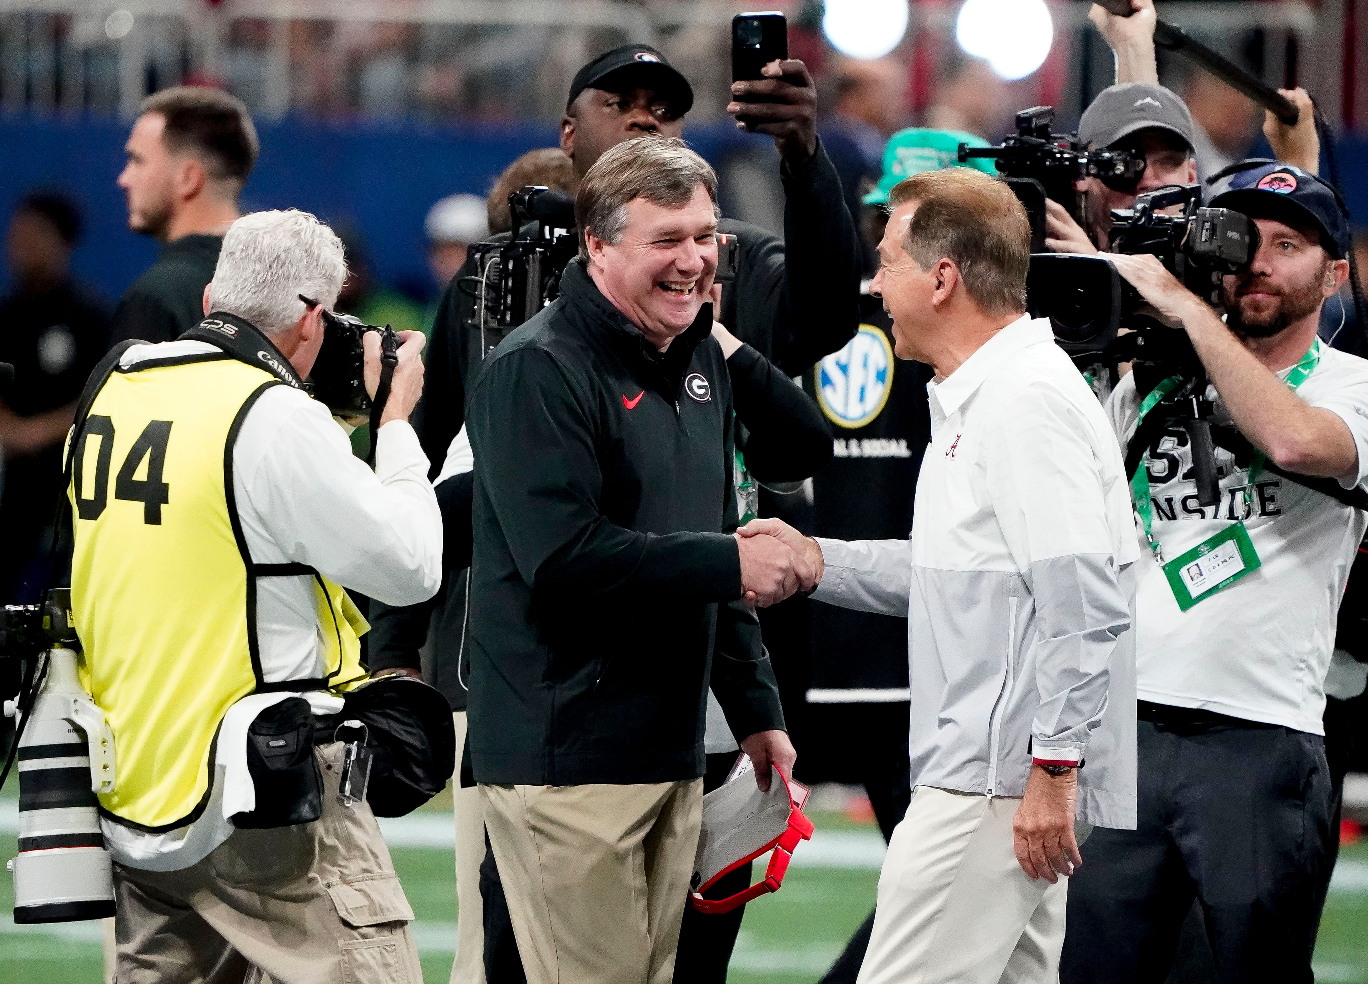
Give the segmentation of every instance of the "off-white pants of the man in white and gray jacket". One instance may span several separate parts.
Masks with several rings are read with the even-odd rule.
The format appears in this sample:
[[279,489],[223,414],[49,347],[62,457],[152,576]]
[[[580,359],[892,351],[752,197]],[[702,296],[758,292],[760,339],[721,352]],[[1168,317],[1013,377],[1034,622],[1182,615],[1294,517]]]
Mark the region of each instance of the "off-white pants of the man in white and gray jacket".
[[[878,876],[859,984],[1057,984],[1068,879],[1012,851],[1019,799],[912,790]],[[1092,825],[1077,824],[1078,843]]]

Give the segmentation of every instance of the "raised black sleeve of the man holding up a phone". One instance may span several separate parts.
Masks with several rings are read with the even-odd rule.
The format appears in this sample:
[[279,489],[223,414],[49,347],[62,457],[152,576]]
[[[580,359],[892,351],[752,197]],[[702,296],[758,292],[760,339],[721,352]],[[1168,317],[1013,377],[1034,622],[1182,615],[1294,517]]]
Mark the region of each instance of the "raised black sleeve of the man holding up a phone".
[[855,337],[860,250],[840,175],[821,144],[811,160],[785,163],[781,178],[784,239],[754,226],[739,230],[741,268],[722,292],[721,320],[793,376]]

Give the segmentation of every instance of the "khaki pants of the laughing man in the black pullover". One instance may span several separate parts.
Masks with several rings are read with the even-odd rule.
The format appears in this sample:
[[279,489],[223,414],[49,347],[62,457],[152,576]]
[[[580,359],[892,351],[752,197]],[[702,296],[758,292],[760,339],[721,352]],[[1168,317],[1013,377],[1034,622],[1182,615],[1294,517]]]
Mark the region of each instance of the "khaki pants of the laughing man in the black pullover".
[[480,792],[528,984],[670,984],[703,780]]

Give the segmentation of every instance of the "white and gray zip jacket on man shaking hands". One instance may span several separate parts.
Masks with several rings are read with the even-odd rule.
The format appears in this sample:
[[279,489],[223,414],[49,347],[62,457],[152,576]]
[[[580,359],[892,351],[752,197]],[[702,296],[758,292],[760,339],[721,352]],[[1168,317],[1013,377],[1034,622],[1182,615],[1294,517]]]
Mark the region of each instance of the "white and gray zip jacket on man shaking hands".
[[1134,828],[1138,546],[1111,424],[1027,316],[928,391],[911,538],[818,539],[813,598],[907,614],[912,786],[1021,797],[1033,757],[1083,762],[1078,818]]

